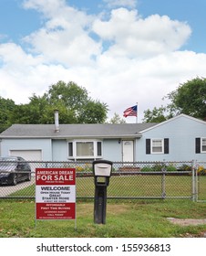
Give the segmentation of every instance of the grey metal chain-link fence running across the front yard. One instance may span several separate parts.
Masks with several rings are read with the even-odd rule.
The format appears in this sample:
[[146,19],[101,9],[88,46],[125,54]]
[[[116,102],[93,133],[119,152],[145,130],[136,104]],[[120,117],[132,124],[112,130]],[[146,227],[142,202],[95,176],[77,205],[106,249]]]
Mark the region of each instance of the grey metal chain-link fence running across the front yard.
[[[25,175],[24,181],[14,186],[0,185],[0,198],[35,198],[36,168],[76,168],[77,198],[94,198],[95,185],[92,162],[27,162],[31,172],[19,170],[18,175]],[[9,163],[7,163],[9,165]],[[203,165],[203,163],[202,163]],[[204,163],[206,165],[206,163]],[[0,163],[2,166],[2,163]],[[108,186],[108,198],[191,198],[197,193],[205,197],[206,176],[204,182],[197,181],[200,163],[194,162],[114,162]],[[199,168],[199,169],[198,169]],[[1,168],[2,169],[2,168]],[[15,175],[5,169],[0,170],[0,183],[4,176]],[[26,178],[27,177],[27,178]],[[3,182],[4,183],[4,182]],[[198,187],[197,187],[198,186]],[[206,199],[206,197],[205,197]]]

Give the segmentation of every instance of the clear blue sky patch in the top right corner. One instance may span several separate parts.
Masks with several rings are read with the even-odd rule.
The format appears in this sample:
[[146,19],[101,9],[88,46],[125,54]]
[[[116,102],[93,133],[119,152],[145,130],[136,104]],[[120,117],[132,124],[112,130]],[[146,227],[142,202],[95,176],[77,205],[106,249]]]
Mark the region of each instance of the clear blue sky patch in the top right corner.
[[154,13],[160,16],[167,15],[171,19],[178,19],[187,22],[191,29],[191,38],[183,47],[196,52],[205,52],[206,42],[206,17],[204,10],[206,9],[206,1],[204,0],[142,0],[139,4],[139,12],[143,16],[149,16]]

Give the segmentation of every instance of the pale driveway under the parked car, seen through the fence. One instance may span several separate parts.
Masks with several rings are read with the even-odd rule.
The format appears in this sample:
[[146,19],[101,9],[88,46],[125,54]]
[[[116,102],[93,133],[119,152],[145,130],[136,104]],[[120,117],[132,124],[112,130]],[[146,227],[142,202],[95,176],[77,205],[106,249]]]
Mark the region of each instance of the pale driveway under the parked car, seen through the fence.
[[35,184],[35,177],[32,176],[31,181],[25,181],[25,182],[20,182],[15,186],[0,186],[0,197],[7,197],[10,194],[21,190],[25,187],[29,187],[31,185]]

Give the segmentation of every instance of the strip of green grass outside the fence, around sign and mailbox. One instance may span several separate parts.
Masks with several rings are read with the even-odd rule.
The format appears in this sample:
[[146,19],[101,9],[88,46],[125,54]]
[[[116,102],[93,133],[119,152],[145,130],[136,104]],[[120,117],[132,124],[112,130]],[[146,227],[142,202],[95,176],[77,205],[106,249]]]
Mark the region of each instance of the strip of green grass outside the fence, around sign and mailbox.
[[109,201],[106,225],[93,222],[93,201],[77,200],[74,220],[35,221],[34,200],[0,200],[0,237],[202,237],[206,225],[180,227],[167,218],[206,219],[206,204],[189,199]]

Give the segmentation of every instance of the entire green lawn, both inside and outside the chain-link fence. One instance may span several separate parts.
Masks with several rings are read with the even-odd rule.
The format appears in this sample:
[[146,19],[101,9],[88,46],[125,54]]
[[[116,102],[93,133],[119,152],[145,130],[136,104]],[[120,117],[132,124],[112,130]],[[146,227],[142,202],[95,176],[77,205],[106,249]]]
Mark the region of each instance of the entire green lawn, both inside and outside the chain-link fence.
[[[166,176],[167,197],[190,197],[191,176]],[[112,176],[108,197],[160,197],[161,176]],[[198,181],[199,199],[206,198],[206,176]],[[77,230],[74,220],[35,221],[34,199],[0,200],[0,237],[202,237],[206,225],[180,227],[167,218],[206,219],[206,204],[184,199],[108,199],[107,224],[93,222],[93,177],[77,177]],[[11,197],[35,197],[35,185]]]

